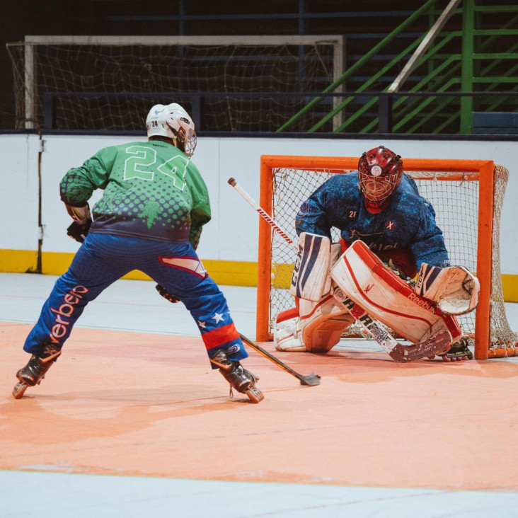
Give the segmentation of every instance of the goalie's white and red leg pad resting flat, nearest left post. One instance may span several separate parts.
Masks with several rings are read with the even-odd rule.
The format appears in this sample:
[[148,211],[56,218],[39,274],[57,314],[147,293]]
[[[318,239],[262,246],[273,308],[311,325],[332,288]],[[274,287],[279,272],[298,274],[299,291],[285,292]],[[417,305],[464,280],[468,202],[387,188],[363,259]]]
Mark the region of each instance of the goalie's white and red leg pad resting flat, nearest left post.
[[318,302],[299,299],[299,309],[288,309],[277,316],[275,348],[279,351],[328,352],[342,333],[354,323],[342,304],[332,295]]

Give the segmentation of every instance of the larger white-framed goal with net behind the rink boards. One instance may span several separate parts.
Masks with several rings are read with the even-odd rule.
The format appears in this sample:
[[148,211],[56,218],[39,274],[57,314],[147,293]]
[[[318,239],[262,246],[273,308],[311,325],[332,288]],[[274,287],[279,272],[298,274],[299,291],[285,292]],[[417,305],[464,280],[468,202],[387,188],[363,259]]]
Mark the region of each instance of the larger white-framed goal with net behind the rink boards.
[[[343,35],[28,35],[6,46],[16,127],[142,132],[152,105],[175,101],[198,132],[275,131],[308,102],[300,92],[316,94],[342,76],[344,41]],[[316,117],[304,115],[292,130]],[[337,113],[328,129],[341,124]]]

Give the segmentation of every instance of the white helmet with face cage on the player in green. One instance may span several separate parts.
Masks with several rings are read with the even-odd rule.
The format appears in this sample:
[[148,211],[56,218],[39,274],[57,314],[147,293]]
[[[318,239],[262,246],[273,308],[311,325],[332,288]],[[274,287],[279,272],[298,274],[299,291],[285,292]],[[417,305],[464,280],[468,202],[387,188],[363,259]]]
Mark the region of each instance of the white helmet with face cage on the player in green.
[[196,132],[190,115],[177,103],[154,105],[146,118],[147,138],[166,137],[189,158],[195,151]]

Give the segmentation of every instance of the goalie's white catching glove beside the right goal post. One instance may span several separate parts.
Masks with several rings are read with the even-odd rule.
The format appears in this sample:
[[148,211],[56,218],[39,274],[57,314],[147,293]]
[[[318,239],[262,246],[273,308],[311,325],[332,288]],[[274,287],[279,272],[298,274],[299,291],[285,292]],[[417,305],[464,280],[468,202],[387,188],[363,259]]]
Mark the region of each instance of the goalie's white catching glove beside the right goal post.
[[464,315],[478,304],[480,282],[462,266],[441,268],[422,263],[414,291],[435,302],[445,315]]

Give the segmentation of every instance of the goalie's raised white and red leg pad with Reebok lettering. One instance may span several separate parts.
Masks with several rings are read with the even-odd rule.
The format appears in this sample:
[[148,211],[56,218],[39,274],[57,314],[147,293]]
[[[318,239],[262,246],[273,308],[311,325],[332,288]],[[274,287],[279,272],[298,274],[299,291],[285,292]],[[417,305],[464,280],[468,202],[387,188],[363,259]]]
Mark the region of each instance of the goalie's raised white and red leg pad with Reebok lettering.
[[456,318],[413,292],[362,241],[355,241],[331,268],[331,277],[370,316],[420,343],[446,330],[451,341],[461,336]]

